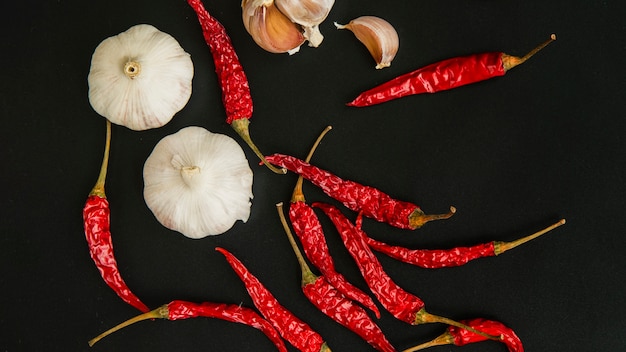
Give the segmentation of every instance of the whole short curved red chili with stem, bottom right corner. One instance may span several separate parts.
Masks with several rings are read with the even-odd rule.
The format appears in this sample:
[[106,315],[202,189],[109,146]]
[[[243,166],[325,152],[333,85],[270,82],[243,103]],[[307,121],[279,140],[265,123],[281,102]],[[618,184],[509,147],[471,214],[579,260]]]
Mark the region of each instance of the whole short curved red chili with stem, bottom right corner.
[[[488,334],[501,336],[500,342],[506,345],[509,352],[524,352],[522,341],[517,334],[515,334],[515,331],[499,321],[476,318],[463,320],[461,322]],[[459,329],[456,326],[449,326],[446,332],[439,335],[432,341],[408,348],[402,352],[415,352],[428,347],[440,345],[465,346],[470,343],[482,342],[485,340],[484,336],[474,334],[473,332],[465,329]]]

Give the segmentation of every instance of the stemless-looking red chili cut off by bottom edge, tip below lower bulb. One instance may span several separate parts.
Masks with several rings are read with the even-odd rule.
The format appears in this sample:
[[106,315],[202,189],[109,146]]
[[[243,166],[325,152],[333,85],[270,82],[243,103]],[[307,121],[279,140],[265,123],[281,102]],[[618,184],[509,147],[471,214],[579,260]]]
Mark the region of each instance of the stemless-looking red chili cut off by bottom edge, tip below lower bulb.
[[302,352],[330,352],[330,348],[322,336],[280,304],[276,297],[237,257],[221,247],[217,247],[215,250],[224,255],[228,264],[244,283],[255,307],[285,340]]

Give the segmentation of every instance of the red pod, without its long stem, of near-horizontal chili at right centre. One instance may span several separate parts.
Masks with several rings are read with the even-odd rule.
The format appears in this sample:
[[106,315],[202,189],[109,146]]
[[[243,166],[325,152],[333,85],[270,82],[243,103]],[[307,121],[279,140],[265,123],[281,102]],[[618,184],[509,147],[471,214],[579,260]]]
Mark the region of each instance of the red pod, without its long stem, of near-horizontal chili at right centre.
[[426,269],[461,266],[474,259],[496,255],[493,242],[451,249],[409,249],[402,246],[392,246],[369,236],[366,237],[366,242],[370,248],[377,252]]

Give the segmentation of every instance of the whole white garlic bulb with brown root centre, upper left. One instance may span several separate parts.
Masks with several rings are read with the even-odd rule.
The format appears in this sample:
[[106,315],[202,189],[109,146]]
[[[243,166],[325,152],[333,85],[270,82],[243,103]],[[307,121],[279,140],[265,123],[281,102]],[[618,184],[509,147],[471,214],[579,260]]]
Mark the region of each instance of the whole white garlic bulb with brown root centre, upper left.
[[168,123],[189,101],[193,63],[148,24],[103,40],[91,58],[89,102],[112,123],[141,131]]

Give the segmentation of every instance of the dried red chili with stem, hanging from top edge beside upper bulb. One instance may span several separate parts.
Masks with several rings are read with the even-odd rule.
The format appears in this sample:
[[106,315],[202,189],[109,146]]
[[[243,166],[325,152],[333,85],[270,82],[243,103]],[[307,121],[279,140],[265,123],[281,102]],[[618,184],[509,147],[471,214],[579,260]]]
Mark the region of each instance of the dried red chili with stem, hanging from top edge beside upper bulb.
[[226,122],[270,170],[278,174],[286,173],[286,170],[277,169],[270,165],[250,137],[248,126],[253,111],[250,84],[226,29],[207,12],[201,0],[187,0],[187,3],[198,17],[204,40],[213,56],[215,73],[217,73],[222,88],[222,103],[226,110]]

